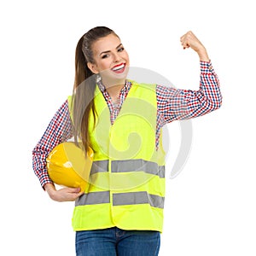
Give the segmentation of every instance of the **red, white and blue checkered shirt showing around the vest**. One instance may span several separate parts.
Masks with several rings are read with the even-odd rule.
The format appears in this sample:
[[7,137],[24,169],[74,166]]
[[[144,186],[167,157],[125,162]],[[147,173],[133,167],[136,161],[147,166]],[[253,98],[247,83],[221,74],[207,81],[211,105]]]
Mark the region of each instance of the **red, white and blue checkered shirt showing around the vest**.
[[[210,113],[221,106],[222,96],[219,90],[218,76],[212,68],[212,63],[211,61],[201,61],[200,64],[200,90],[179,90],[159,84],[156,85],[156,148],[158,148],[159,145],[160,128],[163,125],[177,119],[195,118],[205,113]],[[98,87],[102,91],[102,95],[108,104],[112,124],[117,118],[131,86],[131,82],[126,81],[125,86],[120,90],[119,102],[114,104],[104,85],[98,83]],[[46,169],[46,158],[49,152],[57,144],[65,142],[72,137],[72,121],[66,101],[55,113],[43,137],[32,150],[33,170],[43,187],[45,183],[51,183]]]

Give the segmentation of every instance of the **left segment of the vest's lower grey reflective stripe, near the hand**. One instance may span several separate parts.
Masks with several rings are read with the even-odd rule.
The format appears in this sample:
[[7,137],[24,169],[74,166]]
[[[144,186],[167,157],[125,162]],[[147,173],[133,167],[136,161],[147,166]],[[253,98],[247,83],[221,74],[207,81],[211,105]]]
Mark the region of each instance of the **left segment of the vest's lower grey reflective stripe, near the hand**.
[[90,192],[81,195],[76,201],[75,206],[106,204],[110,202],[109,196],[109,191]]

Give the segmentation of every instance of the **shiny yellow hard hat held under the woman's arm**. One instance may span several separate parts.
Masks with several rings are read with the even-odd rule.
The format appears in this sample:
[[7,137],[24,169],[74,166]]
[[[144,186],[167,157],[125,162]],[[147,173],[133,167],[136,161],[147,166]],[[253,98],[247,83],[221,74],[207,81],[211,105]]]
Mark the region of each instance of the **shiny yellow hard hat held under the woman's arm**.
[[49,153],[47,171],[51,180],[59,185],[80,188],[84,191],[89,184],[93,150],[89,148],[85,157],[84,150],[75,143],[65,142],[57,145]]

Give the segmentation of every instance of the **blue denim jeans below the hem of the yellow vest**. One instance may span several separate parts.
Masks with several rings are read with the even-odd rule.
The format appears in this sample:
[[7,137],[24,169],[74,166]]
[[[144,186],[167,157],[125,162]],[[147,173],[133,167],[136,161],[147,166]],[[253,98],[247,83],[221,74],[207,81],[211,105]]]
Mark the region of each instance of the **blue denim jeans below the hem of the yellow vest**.
[[156,256],[160,232],[150,230],[85,230],[76,232],[77,256]]

